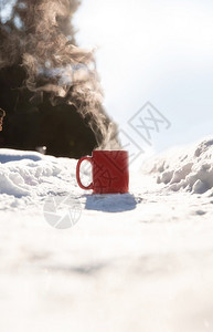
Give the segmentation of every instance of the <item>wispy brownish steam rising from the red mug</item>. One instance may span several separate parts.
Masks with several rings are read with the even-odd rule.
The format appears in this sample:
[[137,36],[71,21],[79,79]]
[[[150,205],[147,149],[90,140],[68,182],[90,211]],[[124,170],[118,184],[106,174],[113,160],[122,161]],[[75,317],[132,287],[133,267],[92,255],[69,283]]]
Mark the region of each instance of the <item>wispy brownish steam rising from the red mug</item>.
[[53,105],[63,98],[84,118],[92,115],[89,126],[98,148],[120,148],[116,125],[103,111],[94,52],[75,45],[71,18],[78,4],[76,0],[17,0],[13,14],[19,29],[0,31],[0,68],[21,63],[30,91],[47,92]]

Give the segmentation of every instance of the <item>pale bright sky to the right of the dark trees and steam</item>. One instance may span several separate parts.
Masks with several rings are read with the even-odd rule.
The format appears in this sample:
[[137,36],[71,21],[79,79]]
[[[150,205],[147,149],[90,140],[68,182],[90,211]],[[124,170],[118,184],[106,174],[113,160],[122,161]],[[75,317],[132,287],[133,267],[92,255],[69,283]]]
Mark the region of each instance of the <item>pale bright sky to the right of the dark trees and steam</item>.
[[155,151],[212,133],[212,0],[82,0],[74,23],[79,45],[98,48],[106,110],[131,137],[147,101],[171,122]]

